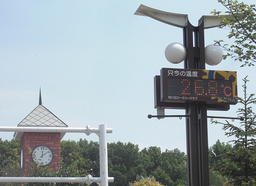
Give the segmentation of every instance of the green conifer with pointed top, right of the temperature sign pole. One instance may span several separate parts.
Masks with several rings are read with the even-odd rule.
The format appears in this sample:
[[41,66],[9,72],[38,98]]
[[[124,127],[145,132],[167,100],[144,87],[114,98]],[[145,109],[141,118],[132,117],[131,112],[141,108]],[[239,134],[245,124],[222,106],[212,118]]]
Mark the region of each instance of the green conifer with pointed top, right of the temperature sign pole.
[[219,156],[228,161],[222,165],[217,164],[216,170],[226,176],[233,185],[256,185],[256,114],[252,110],[256,98],[254,94],[247,93],[247,77],[243,81],[244,97],[239,98],[243,108],[238,110],[238,115],[244,117],[244,121],[241,121],[240,126],[228,121],[213,121],[223,124],[225,135],[235,138],[230,141],[234,146]]

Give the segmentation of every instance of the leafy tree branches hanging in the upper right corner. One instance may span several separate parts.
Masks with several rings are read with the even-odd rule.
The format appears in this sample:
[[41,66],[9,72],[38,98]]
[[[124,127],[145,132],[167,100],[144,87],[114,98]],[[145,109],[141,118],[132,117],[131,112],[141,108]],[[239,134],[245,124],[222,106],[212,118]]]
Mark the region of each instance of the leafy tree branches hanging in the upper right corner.
[[[227,44],[223,40],[216,41],[217,45],[222,46],[228,51],[227,56],[243,62],[243,66],[254,66],[256,62],[256,21],[255,5],[246,5],[238,0],[218,0],[227,11],[225,14],[232,15],[232,18],[221,16],[222,12],[214,10],[211,13],[219,15],[224,23],[221,28],[229,30],[228,38],[233,39],[234,44]],[[254,3],[254,2],[253,2]]]

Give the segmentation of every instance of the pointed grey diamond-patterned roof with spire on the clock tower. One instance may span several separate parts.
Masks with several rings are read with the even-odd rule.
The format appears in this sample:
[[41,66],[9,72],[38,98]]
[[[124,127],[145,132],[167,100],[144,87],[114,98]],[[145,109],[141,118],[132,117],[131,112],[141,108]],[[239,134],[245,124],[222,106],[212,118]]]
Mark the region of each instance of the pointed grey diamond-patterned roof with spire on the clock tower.
[[[39,126],[39,127],[68,127],[63,121],[61,121],[57,116],[55,116],[51,111],[42,105],[41,99],[41,88],[39,91],[39,105],[26,117],[24,118],[18,126]],[[61,134],[61,139],[65,133]],[[23,136],[23,132],[15,132],[14,139],[20,140]]]

